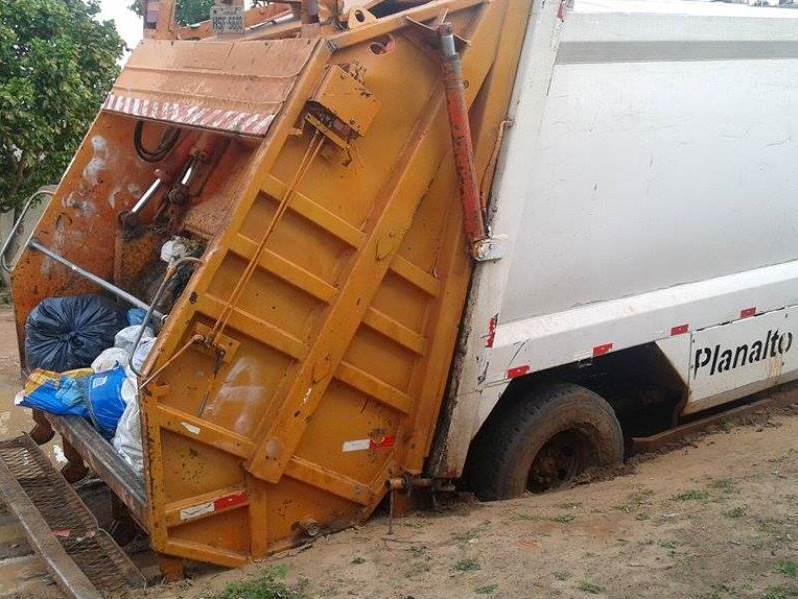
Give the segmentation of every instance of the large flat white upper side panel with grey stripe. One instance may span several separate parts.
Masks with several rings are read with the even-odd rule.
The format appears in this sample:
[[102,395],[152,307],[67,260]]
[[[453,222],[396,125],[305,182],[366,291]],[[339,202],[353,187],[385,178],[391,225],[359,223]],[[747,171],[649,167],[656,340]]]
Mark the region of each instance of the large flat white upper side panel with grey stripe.
[[500,323],[798,258],[798,21],[739,23],[569,16]]

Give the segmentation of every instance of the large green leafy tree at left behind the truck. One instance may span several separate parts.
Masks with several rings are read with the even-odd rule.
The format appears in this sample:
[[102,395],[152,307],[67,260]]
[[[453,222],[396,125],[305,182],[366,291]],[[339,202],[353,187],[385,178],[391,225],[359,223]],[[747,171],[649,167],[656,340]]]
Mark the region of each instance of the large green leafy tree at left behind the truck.
[[98,0],[0,0],[0,210],[56,183],[125,50]]

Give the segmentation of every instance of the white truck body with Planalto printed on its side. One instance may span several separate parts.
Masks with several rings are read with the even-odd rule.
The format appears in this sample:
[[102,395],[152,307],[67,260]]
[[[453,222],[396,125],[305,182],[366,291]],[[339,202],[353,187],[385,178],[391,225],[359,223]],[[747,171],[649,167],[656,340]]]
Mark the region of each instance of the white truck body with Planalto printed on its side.
[[685,414],[798,377],[798,11],[534,14],[439,475],[518,376],[656,343]]

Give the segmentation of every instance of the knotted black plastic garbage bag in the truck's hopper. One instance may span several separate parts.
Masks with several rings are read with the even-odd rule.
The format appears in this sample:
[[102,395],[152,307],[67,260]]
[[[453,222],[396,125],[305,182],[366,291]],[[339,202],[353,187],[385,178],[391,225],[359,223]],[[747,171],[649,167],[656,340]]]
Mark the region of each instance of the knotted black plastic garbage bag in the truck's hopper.
[[51,297],[28,315],[25,363],[65,372],[91,366],[127,326],[127,311],[97,295]]

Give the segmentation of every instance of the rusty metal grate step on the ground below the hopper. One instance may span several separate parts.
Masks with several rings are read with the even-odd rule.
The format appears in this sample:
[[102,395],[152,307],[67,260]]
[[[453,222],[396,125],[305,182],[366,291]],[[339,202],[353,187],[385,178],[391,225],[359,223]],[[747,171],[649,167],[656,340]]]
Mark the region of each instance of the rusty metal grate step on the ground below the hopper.
[[28,435],[0,441],[0,497],[67,597],[144,587],[138,568]]

